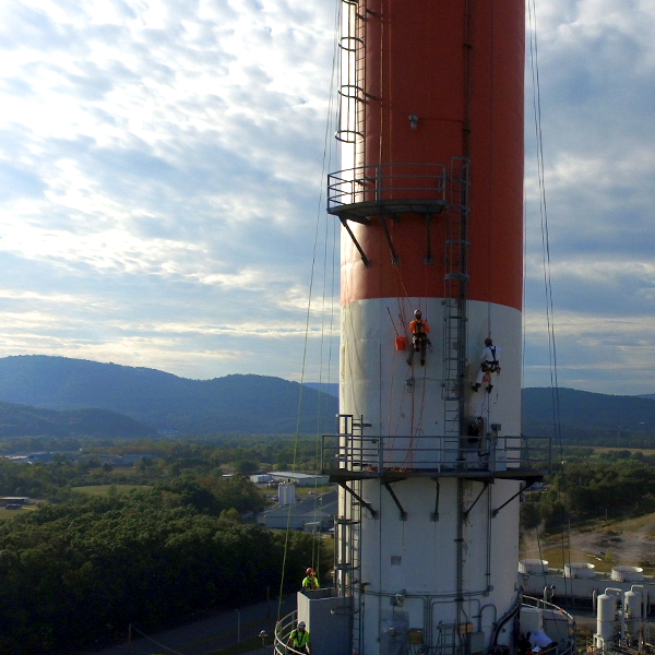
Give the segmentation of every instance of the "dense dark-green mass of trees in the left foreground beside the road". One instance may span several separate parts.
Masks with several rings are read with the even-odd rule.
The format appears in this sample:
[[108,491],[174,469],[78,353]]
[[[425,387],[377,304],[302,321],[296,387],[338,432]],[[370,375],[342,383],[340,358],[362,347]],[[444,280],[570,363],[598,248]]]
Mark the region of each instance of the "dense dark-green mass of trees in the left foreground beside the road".
[[[241,524],[248,480],[179,477],[0,521],[0,652],[79,648],[188,612],[297,588],[317,544]],[[261,497],[260,497],[261,498]],[[329,561],[325,557],[324,561]]]

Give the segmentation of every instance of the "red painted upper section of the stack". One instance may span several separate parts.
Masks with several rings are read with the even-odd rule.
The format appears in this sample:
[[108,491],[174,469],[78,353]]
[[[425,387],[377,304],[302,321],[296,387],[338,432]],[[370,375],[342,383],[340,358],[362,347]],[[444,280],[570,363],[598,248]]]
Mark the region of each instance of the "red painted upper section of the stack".
[[[365,164],[467,157],[467,298],[520,310],[524,0],[368,0],[367,9]],[[378,217],[355,226],[371,265],[345,241],[342,302],[443,297],[446,219],[431,222],[430,265],[422,215],[388,223],[397,265]]]

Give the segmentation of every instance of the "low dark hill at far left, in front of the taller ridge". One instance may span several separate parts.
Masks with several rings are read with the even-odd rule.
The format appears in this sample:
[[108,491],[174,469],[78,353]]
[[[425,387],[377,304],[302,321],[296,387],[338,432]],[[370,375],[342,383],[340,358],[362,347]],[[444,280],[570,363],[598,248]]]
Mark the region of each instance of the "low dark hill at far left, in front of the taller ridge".
[[156,430],[107,409],[39,409],[0,403],[0,437],[147,437]]

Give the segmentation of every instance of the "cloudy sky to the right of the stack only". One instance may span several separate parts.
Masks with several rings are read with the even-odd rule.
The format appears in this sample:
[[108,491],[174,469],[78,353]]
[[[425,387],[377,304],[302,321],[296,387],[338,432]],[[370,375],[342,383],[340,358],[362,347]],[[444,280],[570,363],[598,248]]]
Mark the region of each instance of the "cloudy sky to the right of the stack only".
[[[537,5],[557,378],[562,386],[602,393],[653,393],[655,5],[648,0]],[[547,385],[529,49],[526,69],[524,382]]]

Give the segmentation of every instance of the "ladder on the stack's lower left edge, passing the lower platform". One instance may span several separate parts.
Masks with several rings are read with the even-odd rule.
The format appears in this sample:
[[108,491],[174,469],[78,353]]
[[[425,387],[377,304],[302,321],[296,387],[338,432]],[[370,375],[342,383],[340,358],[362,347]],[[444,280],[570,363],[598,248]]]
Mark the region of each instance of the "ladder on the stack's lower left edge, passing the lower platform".
[[[357,442],[360,443],[365,427],[367,426],[362,417],[355,418],[349,414],[338,415],[338,433],[347,453],[346,467],[352,471],[361,471],[361,456],[357,456],[357,453],[360,453],[360,446],[357,445]],[[353,443],[355,443],[354,449]],[[361,498],[361,480],[353,479],[349,485],[355,495]],[[338,549],[335,560],[337,593],[344,598],[352,599],[353,654],[358,655],[361,652],[361,503],[355,495],[348,491],[343,492],[343,502],[340,502],[340,514],[334,527],[335,547]]]

